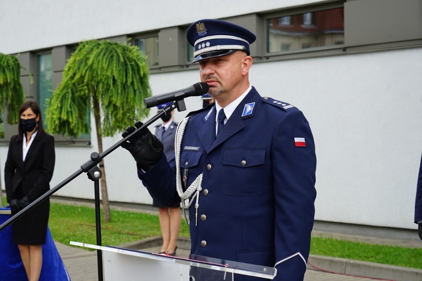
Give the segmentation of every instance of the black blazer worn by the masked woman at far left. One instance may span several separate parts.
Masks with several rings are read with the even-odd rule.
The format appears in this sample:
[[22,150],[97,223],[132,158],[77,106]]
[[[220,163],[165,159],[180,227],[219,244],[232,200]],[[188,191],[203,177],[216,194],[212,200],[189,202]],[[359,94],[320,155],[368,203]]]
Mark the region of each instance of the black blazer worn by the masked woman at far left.
[[26,154],[25,162],[22,160],[22,141],[18,140],[17,135],[10,139],[4,166],[7,202],[16,198],[14,191],[19,185],[23,194],[31,201],[50,190],[55,162],[53,136],[45,134],[38,140],[35,138]]

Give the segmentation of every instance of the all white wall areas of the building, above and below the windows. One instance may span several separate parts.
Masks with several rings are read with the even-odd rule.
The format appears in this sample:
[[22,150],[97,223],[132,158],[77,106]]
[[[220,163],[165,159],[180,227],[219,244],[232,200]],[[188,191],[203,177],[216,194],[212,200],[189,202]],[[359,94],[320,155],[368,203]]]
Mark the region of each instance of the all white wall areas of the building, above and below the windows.
[[[247,0],[236,4],[236,9],[232,2],[225,1],[227,8],[206,12],[197,1],[184,0],[185,4],[172,7],[171,13],[170,9],[148,6],[152,5],[150,1],[143,3],[145,8],[138,2],[147,1],[136,0],[126,1],[125,7],[114,1],[100,6],[98,3],[109,1],[96,0],[54,1],[53,7],[45,8],[50,6],[47,2],[51,1],[0,1],[0,52],[15,53],[73,43],[88,36],[108,37],[311,1],[264,1],[258,6],[256,1]],[[66,13],[62,12],[64,7],[69,9]],[[173,11],[178,16],[171,16]],[[35,15],[40,13],[46,16],[35,22]],[[17,21],[17,15],[25,21]],[[57,23],[58,17],[63,21]],[[9,26],[4,28],[4,23]],[[34,30],[37,26],[45,27],[43,35]],[[64,33],[63,28],[67,29]],[[297,106],[311,124],[317,145],[317,220],[415,229],[422,151],[421,61],[422,48],[409,48],[253,65],[250,80],[261,95]],[[153,74],[150,78],[155,94],[198,81],[196,70]],[[201,104],[199,97],[187,98],[188,109],[176,112],[176,121]],[[95,134],[92,137],[93,147],[56,148],[52,187],[79,170],[91,152],[98,151]],[[119,139],[119,135],[106,138],[104,147]],[[6,155],[7,147],[1,146],[1,171]],[[151,203],[127,151],[118,148],[106,157],[105,165],[110,200]],[[94,198],[93,183],[83,174],[56,194]]]

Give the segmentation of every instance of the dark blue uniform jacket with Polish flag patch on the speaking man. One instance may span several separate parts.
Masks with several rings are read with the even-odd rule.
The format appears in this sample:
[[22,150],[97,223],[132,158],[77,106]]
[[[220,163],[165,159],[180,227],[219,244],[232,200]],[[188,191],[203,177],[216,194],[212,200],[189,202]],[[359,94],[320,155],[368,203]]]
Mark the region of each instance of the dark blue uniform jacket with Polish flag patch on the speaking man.
[[[316,198],[308,121],[296,107],[252,88],[215,139],[210,108],[189,114],[181,144],[187,186],[203,173],[197,220],[195,204],[189,210],[192,253],[275,266],[276,281],[303,280]],[[148,172],[138,168],[138,176],[160,203],[180,201],[174,158],[167,163],[163,156]]]

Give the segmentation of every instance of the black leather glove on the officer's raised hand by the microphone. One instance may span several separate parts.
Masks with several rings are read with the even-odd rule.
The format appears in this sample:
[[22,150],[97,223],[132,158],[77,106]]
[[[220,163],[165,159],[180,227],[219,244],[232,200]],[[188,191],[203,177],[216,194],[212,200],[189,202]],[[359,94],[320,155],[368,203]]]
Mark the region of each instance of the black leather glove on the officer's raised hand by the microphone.
[[[136,128],[141,127],[142,122],[136,122],[135,126]],[[123,132],[122,137],[128,136],[135,130],[135,127],[127,127],[126,132]],[[148,171],[154,167],[161,159],[163,153],[161,141],[151,134],[147,127],[131,136],[128,141],[123,142],[121,146],[132,154],[136,163],[138,163],[144,171]]]

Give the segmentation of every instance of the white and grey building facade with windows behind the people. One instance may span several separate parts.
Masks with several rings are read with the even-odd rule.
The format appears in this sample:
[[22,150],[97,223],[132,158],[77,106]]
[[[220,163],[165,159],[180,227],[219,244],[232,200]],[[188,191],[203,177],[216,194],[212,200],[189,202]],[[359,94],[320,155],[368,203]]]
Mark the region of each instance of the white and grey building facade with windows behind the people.
[[[31,84],[21,72],[27,99],[44,104],[80,41],[129,42],[148,55],[153,94],[162,94],[199,81],[185,37],[192,22],[218,18],[242,25],[257,35],[252,85],[298,107],[310,122],[317,149],[316,220],[416,229],[422,1],[216,0],[212,6],[194,0],[3,0],[0,52],[18,54],[34,75]],[[202,107],[199,97],[185,102],[187,111],[176,112],[176,121]],[[2,125],[4,169],[17,130]],[[52,187],[98,151],[92,130],[79,138],[55,136]],[[104,148],[119,139],[106,138]],[[110,201],[152,203],[127,151],[109,154],[105,166]],[[55,195],[92,199],[93,183],[80,176]]]

